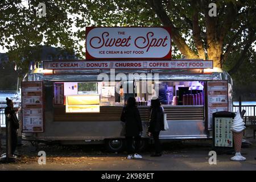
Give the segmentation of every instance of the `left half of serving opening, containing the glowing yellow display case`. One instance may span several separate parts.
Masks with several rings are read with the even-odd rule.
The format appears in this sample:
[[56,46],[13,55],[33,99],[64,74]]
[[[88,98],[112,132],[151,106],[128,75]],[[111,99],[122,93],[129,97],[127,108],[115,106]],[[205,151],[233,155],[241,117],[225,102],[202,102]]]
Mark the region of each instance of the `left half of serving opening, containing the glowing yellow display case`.
[[65,113],[100,113],[100,106],[123,106],[121,82],[55,82],[54,105]]

